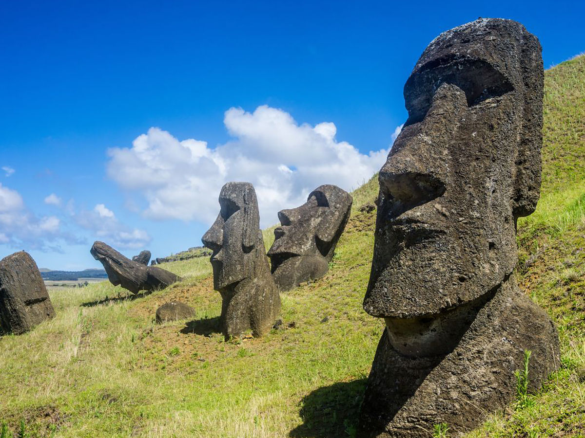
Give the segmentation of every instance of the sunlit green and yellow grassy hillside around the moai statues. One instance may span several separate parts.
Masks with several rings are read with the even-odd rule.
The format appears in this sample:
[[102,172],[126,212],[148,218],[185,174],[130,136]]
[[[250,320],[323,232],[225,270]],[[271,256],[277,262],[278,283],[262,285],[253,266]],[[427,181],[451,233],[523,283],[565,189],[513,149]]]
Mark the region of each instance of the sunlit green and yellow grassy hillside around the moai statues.
[[[559,326],[562,369],[472,437],[585,436],[585,57],[545,80],[542,199],[519,223],[518,277]],[[375,211],[358,207],[376,192],[375,178],[356,190],[331,270],[283,294],[283,325],[261,339],[224,342],[206,258],[164,264],[184,281],[148,296],[53,291],[56,318],[0,338],[0,421],[29,437],[353,436],[383,330],[362,310]],[[171,300],[195,320],[154,325]]]

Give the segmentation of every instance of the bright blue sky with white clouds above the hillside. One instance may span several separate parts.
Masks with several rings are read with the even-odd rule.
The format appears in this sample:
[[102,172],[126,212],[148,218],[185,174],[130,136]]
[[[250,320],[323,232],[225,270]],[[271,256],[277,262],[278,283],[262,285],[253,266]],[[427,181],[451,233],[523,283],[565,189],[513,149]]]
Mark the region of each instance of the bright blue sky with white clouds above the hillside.
[[0,258],[99,266],[201,245],[227,180],[263,226],[322,183],[350,190],[406,119],[426,45],[482,17],[585,50],[583,2],[1,2]]

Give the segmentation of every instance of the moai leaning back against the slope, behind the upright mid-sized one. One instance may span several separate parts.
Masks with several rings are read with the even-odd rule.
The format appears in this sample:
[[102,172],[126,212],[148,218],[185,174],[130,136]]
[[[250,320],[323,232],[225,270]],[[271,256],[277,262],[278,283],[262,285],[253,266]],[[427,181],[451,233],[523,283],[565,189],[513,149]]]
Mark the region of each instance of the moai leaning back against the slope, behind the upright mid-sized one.
[[302,206],[278,212],[281,225],[274,230],[268,256],[274,283],[281,290],[327,273],[352,201],[338,186],[323,185],[309,193]]

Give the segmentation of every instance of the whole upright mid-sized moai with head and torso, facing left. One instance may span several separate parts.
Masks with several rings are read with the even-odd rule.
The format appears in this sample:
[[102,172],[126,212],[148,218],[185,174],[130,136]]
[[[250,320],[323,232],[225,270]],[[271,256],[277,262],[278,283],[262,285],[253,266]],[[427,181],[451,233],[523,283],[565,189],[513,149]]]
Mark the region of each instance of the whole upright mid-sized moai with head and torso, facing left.
[[201,241],[213,251],[214,288],[222,296],[223,335],[268,332],[280,312],[280,295],[260,231],[256,192],[250,183],[229,182],[219,193],[219,215]]

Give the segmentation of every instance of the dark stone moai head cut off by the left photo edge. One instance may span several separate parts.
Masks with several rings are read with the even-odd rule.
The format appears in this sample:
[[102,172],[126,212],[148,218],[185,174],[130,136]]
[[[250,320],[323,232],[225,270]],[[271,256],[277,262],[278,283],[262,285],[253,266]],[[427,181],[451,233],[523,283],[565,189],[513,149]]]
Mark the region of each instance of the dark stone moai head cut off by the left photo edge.
[[0,332],[27,332],[54,316],[35,260],[24,251],[0,260]]

